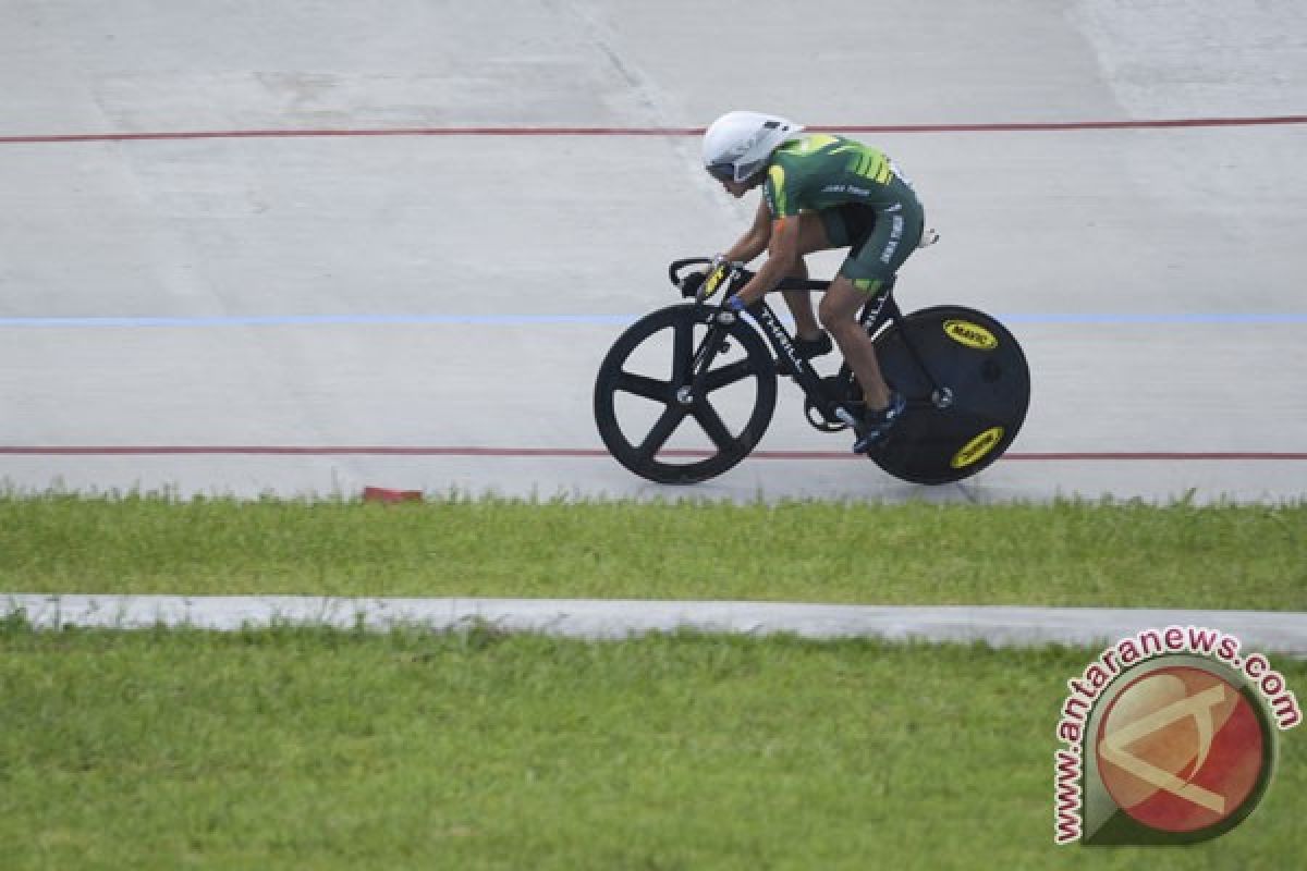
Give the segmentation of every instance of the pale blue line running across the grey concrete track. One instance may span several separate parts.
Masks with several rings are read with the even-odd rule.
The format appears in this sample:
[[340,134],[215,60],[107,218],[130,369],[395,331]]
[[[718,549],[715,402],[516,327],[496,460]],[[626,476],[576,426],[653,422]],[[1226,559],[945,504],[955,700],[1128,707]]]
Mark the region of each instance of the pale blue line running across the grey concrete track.
[[[0,317],[0,328],[123,329],[137,326],[550,326],[626,325],[640,315],[218,315],[166,317]],[[1000,313],[1005,324],[1185,325],[1307,324],[1307,312]]]

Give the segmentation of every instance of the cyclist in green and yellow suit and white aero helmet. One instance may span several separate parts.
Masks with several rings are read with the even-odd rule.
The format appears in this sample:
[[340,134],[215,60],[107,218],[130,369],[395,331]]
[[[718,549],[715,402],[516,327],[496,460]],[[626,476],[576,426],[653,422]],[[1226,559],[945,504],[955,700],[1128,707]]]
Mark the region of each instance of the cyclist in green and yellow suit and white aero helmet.
[[[727,112],[703,135],[703,166],[736,198],[762,187],[753,226],[720,260],[767,260],[727,304],[736,311],[758,302],[787,277],[808,277],[804,256],[848,248],[848,257],[822,298],[823,333],[806,291],[787,291],[786,303],[804,356],[830,353],[834,337],[863,388],[863,431],[855,453],[884,443],[906,407],[890,390],[876,347],[857,312],[916,249],[924,213],[898,167],[882,151],[840,136],[805,133],[776,115]],[[720,262],[719,260],[719,262]]]

